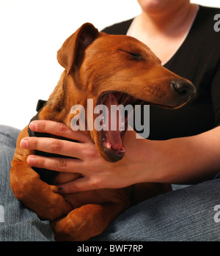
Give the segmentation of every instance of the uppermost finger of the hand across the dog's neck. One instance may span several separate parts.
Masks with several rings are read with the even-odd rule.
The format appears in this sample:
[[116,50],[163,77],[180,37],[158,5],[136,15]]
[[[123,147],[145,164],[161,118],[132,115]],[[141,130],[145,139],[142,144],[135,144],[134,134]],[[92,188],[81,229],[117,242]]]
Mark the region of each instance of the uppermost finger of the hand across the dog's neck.
[[87,142],[90,138],[83,131],[73,131],[62,122],[50,120],[35,120],[29,124],[32,131],[46,134],[54,134],[67,139],[73,139],[78,142]]

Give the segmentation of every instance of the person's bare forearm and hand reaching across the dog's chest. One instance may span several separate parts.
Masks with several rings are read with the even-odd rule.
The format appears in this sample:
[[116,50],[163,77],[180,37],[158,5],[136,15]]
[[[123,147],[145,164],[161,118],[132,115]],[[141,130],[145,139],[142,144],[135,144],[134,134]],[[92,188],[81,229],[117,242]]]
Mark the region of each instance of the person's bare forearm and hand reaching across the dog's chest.
[[27,159],[33,167],[81,173],[83,178],[60,185],[63,193],[122,188],[141,182],[197,183],[213,178],[220,170],[220,127],[197,136],[166,141],[136,139],[134,131],[127,131],[124,158],[110,163],[98,155],[92,140],[82,132],[72,131],[59,122],[37,120],[34,124],[30,126],[34,131],[78,140],[28,137],[21,142],[23,148],[77,158],[29,156]]

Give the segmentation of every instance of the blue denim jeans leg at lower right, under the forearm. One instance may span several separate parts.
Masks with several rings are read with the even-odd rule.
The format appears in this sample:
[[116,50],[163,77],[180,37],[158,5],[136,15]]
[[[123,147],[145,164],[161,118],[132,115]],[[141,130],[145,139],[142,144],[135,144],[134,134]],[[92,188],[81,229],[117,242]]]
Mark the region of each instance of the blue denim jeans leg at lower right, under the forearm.
[[144,201],[94,241],[220,241],[215,205],[220,206],[220,179]]

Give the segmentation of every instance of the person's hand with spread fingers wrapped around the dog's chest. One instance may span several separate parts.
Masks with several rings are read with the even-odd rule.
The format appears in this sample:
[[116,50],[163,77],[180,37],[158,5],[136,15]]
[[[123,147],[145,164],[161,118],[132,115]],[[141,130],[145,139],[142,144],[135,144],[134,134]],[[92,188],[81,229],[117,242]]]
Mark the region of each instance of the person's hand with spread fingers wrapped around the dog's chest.
[[[32,131],[54,134],[77,141],[70,142],[45,137],[26,137],[21,140],[21,147],[29,150],[41,150],[72,157],[50,158],[31,155],[27,158],[27,163],[32,167],[76,173],[76,177],[80,173],[82,178],[59,184],[59,187],[62,188],[62,193],[91,189],[122,188],[141,182],[141,180],[139,181],[141,173],[137,173],[138,165],[136,161],[139,160],[140,155],[143,153],[139,152],[140,145],[136,145],[136,141],[141,142],[143,139],[136,139],[134,131],[128,131],[129,136],[125,137],[126,153],[124,158],[117,163],[111,163],[100,157],[92,139],[82,131],[72,131],[63,123],[48,120],[36,120],[29,125],[29,128]],[[137,156],[139,157],[137,158]],[[144,159],[146,156],[147,152],[144,153]],[[71,177],[73,179],[73,175]]]

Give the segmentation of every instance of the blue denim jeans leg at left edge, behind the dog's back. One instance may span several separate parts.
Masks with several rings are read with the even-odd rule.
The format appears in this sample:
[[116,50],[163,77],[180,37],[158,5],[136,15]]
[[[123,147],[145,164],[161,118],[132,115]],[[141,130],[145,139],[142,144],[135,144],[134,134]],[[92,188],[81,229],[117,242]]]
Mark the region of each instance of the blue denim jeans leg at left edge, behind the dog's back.
[[0,125],[0,241],[54,241],[50,222],[38,219],[10,189],[10,164],[19,132]]

